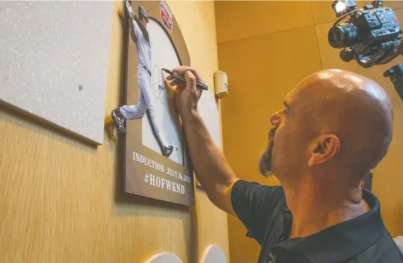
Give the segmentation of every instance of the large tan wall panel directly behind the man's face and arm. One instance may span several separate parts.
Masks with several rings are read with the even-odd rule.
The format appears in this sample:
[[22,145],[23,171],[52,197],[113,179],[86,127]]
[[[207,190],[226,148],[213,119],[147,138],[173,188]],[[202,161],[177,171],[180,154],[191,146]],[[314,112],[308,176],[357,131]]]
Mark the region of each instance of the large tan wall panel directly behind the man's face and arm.
[[[321,69],[315,28],[219,44],[218,59],[230,83],[228,97],[221,101],[225,157],[241,179],[278,184],[259,174],[257,160],[267,146],[271,114],[282,108],[298,81]],[[257,242],[245,237],[245,227],[235,217],[228,216],[228,226],[231,263],[255,262]]]

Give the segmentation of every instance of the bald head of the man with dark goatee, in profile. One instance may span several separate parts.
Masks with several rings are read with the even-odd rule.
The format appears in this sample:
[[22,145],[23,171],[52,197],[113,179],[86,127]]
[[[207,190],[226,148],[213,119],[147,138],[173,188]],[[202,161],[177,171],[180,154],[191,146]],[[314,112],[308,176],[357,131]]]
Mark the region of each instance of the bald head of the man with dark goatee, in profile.
[[[277,127],[272,170],[280,179],[296,171],[342,167],[340,172],[354,174],[350,178],[359,182],[387,152],[392,104],[384,89],[364,76],[319,71],[300,81],[285,105],[271,119]],[[262,154],[261,168],[269,151]]]

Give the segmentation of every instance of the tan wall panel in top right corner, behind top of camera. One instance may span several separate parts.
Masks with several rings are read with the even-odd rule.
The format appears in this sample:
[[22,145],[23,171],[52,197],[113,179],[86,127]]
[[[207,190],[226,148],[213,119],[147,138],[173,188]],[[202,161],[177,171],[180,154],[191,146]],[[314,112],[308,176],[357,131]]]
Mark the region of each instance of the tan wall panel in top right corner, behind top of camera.
[[[315,24],[323,24],[330,21],[336,21],[335,11],[332,9],[333,1],[310,1],[312,5],[312,14]],[[362,8],[366,4],[371,4],[372,1],[356,1],[357,8]],[[384,7],[392,9],[402,9],[403,1],[384,1]]]

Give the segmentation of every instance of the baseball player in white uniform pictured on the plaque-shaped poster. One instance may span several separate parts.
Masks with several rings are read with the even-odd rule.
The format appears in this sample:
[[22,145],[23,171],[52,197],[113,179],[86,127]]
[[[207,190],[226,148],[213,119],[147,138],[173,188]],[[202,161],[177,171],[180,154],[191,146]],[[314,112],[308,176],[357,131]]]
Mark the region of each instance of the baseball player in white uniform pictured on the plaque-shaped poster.
[[151,98],[151,43],[147,31],[148,17],[146,9],[138,6],[138,17],[133,13],[131,4],[126,1],[128,14],[131,16],[131,38],[136,43],[138,52],[138,86],[140,92],[136,105],[124,105],[112,111],[112,119],[119,131],[126,134],[126,119],[142,119],[146,110],[151,119],[154,132],[163,155],[169,157],[173,146],[163,136],[157,123],[157,116]]

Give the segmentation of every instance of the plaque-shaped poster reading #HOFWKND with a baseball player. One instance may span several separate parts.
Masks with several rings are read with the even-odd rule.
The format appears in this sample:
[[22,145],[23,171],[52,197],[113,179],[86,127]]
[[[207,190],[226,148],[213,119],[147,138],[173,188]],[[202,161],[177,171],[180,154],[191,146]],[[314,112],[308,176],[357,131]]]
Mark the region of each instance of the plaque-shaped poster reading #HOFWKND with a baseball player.
[[[178,23],[165,1],[127,1],[128,43],[120,164],[123,191],[176,204],[194,205],[190,169],[173,89],[165,72],[190,65]],[[116,117],[118,118],[118,117]]]

